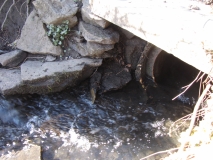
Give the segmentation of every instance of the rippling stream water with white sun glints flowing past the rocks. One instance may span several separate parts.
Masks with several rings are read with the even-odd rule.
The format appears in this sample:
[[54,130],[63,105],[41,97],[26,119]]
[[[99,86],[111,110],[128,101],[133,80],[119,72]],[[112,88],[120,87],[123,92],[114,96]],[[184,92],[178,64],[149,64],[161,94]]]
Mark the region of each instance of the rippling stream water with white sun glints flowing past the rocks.
[[176,94],[131,82],[92,104],[86,81],[49,95],[1,96],[0,154],[33,143],[42,147],[43,160],[136,160],[177,147],[169,125],[192,112],[193,101],[171,101]]

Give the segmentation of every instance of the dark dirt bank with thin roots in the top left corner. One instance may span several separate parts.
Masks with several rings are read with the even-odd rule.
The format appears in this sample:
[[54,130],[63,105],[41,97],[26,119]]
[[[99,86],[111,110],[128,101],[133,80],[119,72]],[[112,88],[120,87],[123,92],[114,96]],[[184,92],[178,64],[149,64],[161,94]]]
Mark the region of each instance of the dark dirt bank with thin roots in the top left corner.
[[[10,44],[14,42],[21,33],[21,29],[27,17],[27,1],[28,0],[1,0],[0,1],[0,26],[3,25],[3,30],[0,30],[0,50],[12,50]],[[5,2],[5,4],[4,4]],[[2,7],[2,5],[4,6]],[[29,12],[32,10],[32,4],[29,5]],[[10,11],[9,8],[11,7]],[[9,11],[9,12],[8,12]],[[8,12],[8,15],[7,15]],[[7,15],[7,18],[5,19]]]

